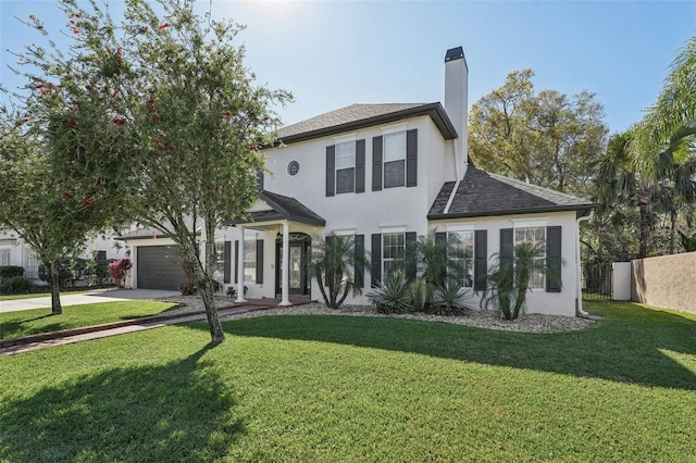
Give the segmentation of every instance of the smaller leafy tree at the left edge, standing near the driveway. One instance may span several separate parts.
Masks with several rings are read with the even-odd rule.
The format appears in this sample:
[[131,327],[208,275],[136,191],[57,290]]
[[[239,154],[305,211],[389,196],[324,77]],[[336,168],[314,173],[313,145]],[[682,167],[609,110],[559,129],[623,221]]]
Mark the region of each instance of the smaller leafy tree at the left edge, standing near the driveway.
[[13,229],[37,253],[51,289],[51,313],[59,315],[61,261],[84,249],[89,233],[107,223],[108,202],[92,182],[66,183],[55,175],[50,134],[39,123],[27,127],[16,121],[4,112],[0,228]]

